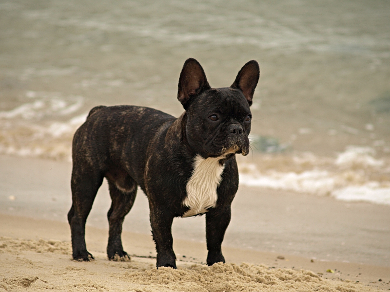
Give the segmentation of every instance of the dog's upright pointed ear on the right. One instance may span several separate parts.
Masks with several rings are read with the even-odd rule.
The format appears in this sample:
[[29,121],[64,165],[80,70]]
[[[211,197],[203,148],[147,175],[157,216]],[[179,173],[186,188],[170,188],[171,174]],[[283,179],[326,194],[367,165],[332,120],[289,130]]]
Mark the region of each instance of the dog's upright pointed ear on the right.
[[252,60],[241,68],[231,86],[231,88],[242,91],[249,103],[249,106],[252,105],[254,89],[256,88],[257,82],[259,81],[259,77],[259,64],[255,60]]

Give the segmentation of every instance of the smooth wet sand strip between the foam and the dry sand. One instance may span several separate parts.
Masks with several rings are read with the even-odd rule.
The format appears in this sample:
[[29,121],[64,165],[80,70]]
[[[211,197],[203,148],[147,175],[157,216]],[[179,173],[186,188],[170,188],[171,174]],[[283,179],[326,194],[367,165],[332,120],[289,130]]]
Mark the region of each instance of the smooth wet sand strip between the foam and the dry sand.
[[[0,214],[67,222],[70,173],[66,162],[0,156]],[[103,183],[87,226],[108,229],[110,203]],[[240,185],[223,246],[389,266],[389,211],[386,205]],[[205,244],[204,226],[204,216],[175,219],[173,237]],[[141,191],[123,231],[150,236],[148,201]]]

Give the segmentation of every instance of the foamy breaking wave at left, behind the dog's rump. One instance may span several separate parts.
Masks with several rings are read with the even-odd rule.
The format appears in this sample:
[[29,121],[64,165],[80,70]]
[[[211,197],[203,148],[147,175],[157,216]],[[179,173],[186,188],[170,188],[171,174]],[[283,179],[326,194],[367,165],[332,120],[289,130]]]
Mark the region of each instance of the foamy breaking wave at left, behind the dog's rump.
[[25,98],[0,111],[0,154],[70,160],[73,133],[87,117],[84,98],[37,91]]

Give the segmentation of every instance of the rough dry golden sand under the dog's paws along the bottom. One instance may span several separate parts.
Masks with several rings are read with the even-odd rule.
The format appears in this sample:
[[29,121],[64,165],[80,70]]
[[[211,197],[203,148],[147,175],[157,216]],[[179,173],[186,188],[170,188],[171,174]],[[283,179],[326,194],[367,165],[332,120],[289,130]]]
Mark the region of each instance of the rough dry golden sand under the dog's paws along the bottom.
[[[175,240],[174,248],[180,259],[178,269],[156,270],[151,237],[129,232],[123,234],[123,239],[132,260],[109,261],[105,255],[107,231],[93,227],[87,228],[86,240],[96,260],[78,262],[71,259],[67,224],[43,219],[0,215],[0,236],[0,291],[358,292],[390,289],[389,267],[311,262],[297,256],[277,259],[278,254],[233,248],[224,248],[226,264],[207,267],[200,263],[206,256],[204,244],[184,240]],[[334,273],[327,273],[328,269]]]

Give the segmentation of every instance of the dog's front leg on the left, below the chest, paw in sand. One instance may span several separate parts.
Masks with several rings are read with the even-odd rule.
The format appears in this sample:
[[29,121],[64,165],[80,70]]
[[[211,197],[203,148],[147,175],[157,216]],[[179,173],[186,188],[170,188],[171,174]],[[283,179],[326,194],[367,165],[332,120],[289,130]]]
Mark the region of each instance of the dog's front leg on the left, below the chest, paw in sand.
[[164,207],[150,206],[150,223],[153,240],[156,243],[157,269],[171,267],[176,269],[176,256],[173,250],[172,222],[174,216]]

